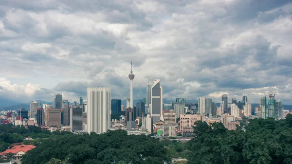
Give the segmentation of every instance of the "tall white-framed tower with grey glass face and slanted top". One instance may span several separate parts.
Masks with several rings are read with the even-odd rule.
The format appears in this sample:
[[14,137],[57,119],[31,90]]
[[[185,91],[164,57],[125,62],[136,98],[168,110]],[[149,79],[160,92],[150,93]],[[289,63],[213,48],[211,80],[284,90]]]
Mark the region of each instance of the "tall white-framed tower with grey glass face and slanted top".
[[163,91],[160,85],[160,80],[153,80],[153,86],[151,87],[151,115],[153,117],[153,123],[161,120],[163,121]]

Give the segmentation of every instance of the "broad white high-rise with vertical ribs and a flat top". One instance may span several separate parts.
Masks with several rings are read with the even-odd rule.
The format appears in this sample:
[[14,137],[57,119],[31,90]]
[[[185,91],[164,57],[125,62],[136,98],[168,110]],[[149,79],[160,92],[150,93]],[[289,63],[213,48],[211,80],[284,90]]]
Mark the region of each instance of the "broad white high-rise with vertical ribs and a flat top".
[[87,88],[87,131],[101,134],[110,129],[110,88]]

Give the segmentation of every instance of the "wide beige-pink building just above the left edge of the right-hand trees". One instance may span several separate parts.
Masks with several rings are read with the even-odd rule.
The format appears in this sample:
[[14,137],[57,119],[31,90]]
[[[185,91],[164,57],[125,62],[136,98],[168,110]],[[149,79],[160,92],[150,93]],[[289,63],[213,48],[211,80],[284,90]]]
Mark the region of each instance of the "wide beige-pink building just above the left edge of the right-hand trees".
[[184,127],[192,127],[195,122],[202,121],[204,118],[201,114],[182,114],[180,116],[180,130],[183,131]]

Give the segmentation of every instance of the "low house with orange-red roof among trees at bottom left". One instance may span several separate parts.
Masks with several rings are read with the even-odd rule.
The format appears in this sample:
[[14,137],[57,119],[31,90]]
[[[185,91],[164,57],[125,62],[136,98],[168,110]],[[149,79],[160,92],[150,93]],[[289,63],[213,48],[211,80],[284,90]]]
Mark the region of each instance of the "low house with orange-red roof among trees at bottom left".
[[27,151],[32,150],[36,146],[33,145],[17,145],[12,147],[11,149],[7,149],[0,153],[0,158],[2,160],[8,160],[7,154],[13,154],[13,158],[15,160],[20,160],[22,155],[25,154]]

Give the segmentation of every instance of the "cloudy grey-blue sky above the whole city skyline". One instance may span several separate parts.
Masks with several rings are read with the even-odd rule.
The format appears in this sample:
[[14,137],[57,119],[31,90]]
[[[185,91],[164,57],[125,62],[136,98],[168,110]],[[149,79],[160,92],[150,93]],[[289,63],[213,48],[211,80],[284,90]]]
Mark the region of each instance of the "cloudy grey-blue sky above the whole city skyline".
[[222,94],[292,104],[291,0],[0,0],[0,99]]

